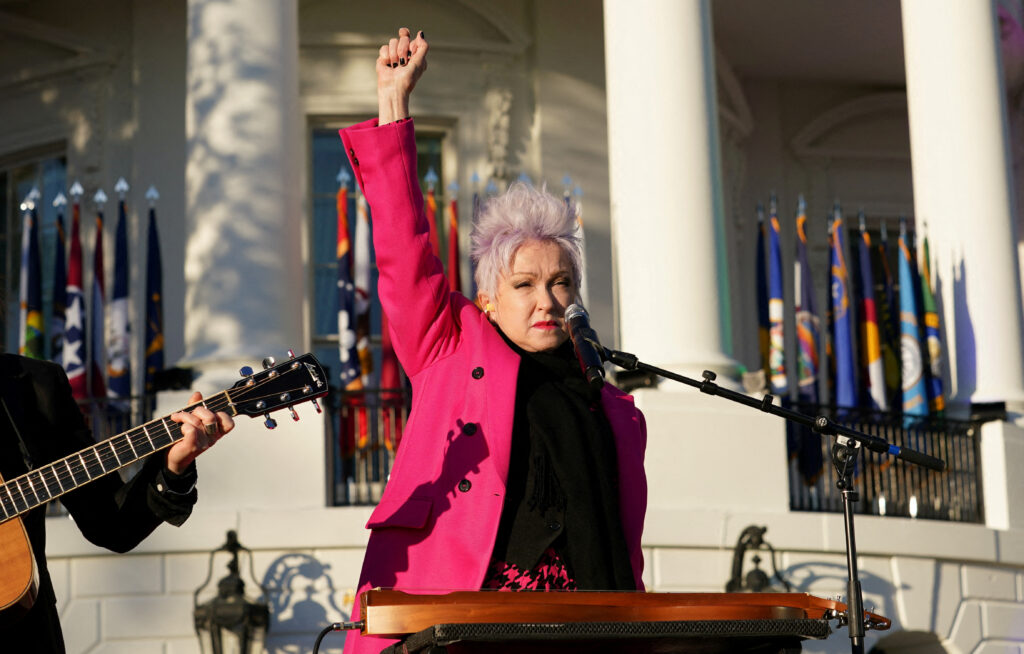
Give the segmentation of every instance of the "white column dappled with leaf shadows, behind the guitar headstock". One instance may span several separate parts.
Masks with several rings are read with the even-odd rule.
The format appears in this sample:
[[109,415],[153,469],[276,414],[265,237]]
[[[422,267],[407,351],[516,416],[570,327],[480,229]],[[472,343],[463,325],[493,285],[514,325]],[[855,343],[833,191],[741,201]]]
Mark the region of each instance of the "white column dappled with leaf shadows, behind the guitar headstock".
[[188,0],[186,83],[182,364],[205,390],[305,342],[297,2]]

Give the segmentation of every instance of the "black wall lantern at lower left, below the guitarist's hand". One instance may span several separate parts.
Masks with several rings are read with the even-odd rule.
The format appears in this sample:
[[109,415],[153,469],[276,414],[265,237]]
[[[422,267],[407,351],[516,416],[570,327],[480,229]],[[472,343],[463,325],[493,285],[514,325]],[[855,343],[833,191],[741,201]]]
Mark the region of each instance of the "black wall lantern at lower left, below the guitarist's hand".
[[[217,582],[217,595],[200,604],[200,594],[213,578],[213,559],[218,552],[231,555],[227,576]],[[193,595],[193,617],[203,654],[255,654],[263,651],[263,640],[270,624],[266,588],[257,582],[260,598],[251,600],[246,597],[246,584],[239,575],[239,552],[249,554],[249,574],[255,580],[252,552],[239,542],[234,531],[228,531],[227,541],[210,553],[206,580]]]

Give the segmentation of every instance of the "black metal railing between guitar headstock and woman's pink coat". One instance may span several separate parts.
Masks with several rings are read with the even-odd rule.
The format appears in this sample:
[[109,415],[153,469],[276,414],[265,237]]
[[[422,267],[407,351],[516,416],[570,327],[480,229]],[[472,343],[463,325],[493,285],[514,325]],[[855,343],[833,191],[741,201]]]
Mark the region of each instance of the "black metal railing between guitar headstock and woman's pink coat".
[[409,416],[408,389],[335,391],[326,398],[332,506],[376,505]]

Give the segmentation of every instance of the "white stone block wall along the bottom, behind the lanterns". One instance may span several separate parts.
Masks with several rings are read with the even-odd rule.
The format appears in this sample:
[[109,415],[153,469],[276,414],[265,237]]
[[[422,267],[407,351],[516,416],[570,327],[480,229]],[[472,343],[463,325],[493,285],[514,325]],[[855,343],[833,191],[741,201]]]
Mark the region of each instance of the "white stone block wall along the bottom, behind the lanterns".
[[[325,513],[346,523],[353,520],[349,514],[358,514],[359,519],[365,517],[364,510],[337,509]],[[774,516],[761,517],[774,519]],[[831,529],[831,525],[825,523],[834,520],[841,522],[838,516],[793,514],[786,516],[782,524],[804,533],[823,533]],[[902,519],[874,520],[888,522],[890,531],[913,533],[918,526]],[[692,520],[662,524],[655,532],[662,532],[659,539],[666,540],[674,526],[686,533],[687,522],[711,526],[712,532],[722,534],[723,542],[716,547],[665,543],[646,547],[648,588],[721,593],[730,576],[734,544],[725,541],[726,534],[731,539],[732,532],[739,530],[726,523],[738,524],[739,521],[722,515],[713,520],[698,513]],[[762,520],[761,524],[769,522]],[[868,518],[858,517],[858,525],[870,522]],[[920,534],[931,536],[936,529],[941,531],[942,526],[939,523],[927,525]],[[986,541],[983,535],[971,531],[989,531],[980,526],[945,526],[957,533],[966,529],[970,535],[964,540],[967,543]],[[295,529],[301,527],[295,526]],[[309,529],[316,532],[319,527],[313,523]],[[271,588],[269,597],[274,620],[267,641],[269,651],[275,654],[310,652],[324,625],[349,618],[361,564],[361,547],[266,548],[256,547],[265,543],[250,542],[246,536],[240,534],[244,544],[256,550],[254,565],[258,581],[278,585]],[[283,539],[290,542],[296,537],[291,533]],[[765,537],[772,544],[794,539],[792,533],[776,532],[774,526],[769,527]],[[953,561],[913,556],[913,552],[884,554],[878,552],[883,543],[873,537],[860,540],[859,570],[865,607],[893,621],[893,629],[888,634],[868,633],[867,649],[892,634],[916,631],[934,634],[949,652],[1019,652],[1024,644],[1022,562],[979,562],[976,557],[986,550],[984,544],[979,546],[978,551],[964,548],[964,558]],[[904,540],[918,551],[936,548],[913,538]],[[214,542],[211,549],[219,544]],[[761,568],[770,574],[769,556],[762,553],[761,557]],[[749,558],[750,553],[744,572],[752,566]],[[207,561],[208,553],[203,552],[163,555],[97,555],[93,552],[89,556],[55,557],[50,567],[62,607],[69,651],[73,654],[128,651],[198,654],[191,593],[206,576]],[[777,561],[796,592],[825,598],[846,594],[846,558],[835,544],[829,551],[780,550]],[[226,555],[217,555],[212,584],[226,573]],[[243,557],[242,568],[248,590],[255,594],[254,584],[248,580],[246,557]],[[213,585],[207,593],[212,590]],[[332,635],[326,639],[322,651],[337,651],[342,642],[340,635]],[[849,651],[845,628],[837,629],[826,641],[804,645],[807,652],[838,654]]]

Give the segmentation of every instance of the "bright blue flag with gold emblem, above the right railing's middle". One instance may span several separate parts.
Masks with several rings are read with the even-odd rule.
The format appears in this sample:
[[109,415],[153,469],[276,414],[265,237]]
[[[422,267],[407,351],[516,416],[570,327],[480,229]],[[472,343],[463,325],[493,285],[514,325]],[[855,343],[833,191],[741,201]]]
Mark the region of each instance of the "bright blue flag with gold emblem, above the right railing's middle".
[[831,296],[835,334],[837,406],[857,405],[857,384],[853,357],[853,315],[850,312],[850,275],[843,247],[843,214],[839,203],[833,210],[831,229]]

